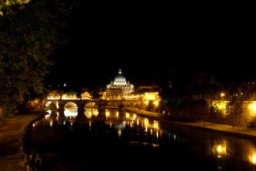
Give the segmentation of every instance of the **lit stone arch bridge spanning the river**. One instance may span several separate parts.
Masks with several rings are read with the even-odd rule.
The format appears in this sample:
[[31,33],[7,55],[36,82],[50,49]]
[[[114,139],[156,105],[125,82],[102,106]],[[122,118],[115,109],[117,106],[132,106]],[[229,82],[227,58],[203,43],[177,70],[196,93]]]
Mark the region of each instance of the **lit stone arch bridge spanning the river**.
[[125,109],[138,108],[145,109],[142,100],[82,100],[82,99],[45,99],[41,103],[41,109],[46,108],[46,104],[54,103],[60,116],[64,116],[65,105],[74,103],[77,105],[78,115],[85,112],[85,107],[97,107],[100,112],[105,112],[107,107]]

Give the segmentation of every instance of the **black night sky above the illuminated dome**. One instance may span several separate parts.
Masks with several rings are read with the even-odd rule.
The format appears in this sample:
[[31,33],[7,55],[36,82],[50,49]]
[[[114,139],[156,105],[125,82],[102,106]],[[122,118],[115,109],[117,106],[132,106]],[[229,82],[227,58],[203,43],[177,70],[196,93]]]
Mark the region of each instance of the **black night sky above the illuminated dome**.
[[47,82],[105,87],[121,68],[139,86],[154,84],[166,71],[182,71],[191,61],[196,70],[205,64],[253,67],[253,27],[245,15],[225,10],[82,3],[70,15],[69,44],[55,53]]

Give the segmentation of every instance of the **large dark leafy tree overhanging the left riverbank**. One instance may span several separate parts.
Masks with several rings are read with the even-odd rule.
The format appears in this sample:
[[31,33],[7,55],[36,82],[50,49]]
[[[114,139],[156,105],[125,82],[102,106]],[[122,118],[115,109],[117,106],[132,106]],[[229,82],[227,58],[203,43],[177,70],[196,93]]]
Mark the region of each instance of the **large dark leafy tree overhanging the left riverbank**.
[[44,77],[54,64],[50,56],[67,43],[67,17],[77,2],[32,0],[23,6],[0,2],[0,108],[11,116],[29,89],[43,93]]

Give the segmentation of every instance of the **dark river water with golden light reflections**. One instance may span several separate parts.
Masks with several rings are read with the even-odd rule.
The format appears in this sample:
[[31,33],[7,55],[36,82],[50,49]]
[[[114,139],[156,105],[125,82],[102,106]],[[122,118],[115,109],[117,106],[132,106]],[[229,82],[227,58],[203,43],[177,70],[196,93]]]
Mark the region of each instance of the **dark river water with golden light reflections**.
[[[92,109],[93,110],[93,109]],[[108,109],[44,117],[31,125],[27,150],[37,170],[256,170],[256,141]]]

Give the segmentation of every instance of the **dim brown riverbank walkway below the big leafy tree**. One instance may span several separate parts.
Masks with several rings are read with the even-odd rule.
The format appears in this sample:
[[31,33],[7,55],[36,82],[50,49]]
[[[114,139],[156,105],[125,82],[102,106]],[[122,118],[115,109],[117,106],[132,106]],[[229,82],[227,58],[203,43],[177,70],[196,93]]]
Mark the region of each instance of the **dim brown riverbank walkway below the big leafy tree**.
[[39,113],[15,114],[0,120],[0,170],[33,170],[27,164],[23,138],[30,123],[41,118]]

